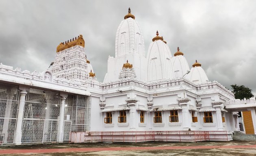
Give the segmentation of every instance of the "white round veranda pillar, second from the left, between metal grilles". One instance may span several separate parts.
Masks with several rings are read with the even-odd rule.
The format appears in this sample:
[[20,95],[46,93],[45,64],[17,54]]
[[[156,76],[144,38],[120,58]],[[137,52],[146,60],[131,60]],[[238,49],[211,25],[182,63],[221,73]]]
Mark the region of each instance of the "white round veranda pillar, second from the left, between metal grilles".
[[67,99],[67,94],[61,93],[61,108],[60,108],[60,121],[59,121],[59,136],[58,142],[63,142],[64,132],[64,113],[65,113],[65,102]]

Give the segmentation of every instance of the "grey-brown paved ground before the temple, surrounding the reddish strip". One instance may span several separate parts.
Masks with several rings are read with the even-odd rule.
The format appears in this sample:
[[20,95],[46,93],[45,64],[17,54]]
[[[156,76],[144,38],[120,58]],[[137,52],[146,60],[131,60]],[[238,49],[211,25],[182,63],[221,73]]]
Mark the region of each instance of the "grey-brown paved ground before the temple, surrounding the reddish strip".
[[[24,149],[71,149],[61,153],[26,153],[2,154],[1,156],[256,156],[256,148],[222,148],[233,145],[256,145],[256,141],[205,141],[189,142],[143,142],[143,143],[53,143],[38,145],[0,146],[0,150]],[[170,146],[216,146],[209,149],[184,150],[122,150],[98,152],[72,152],[72,148],[106,148],[106,147],[170,147]],[[139,149],[139,148],[138,148]]]

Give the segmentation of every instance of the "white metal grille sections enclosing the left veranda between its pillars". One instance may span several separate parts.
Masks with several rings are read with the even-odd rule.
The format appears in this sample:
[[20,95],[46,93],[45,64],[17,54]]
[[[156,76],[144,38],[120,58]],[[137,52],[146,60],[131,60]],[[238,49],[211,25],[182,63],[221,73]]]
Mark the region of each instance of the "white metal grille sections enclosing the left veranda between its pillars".
[[[0,145],[14,143],[20,91],[17,85],[0,83]],[[59,92],[30,88],[22,119],[22,143],[58,141],[61,107]],[[71,131],[90,128],[91,98],[68,95],[65,102],[63,140]]]

